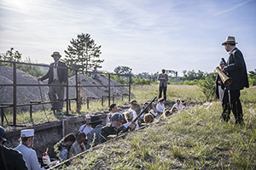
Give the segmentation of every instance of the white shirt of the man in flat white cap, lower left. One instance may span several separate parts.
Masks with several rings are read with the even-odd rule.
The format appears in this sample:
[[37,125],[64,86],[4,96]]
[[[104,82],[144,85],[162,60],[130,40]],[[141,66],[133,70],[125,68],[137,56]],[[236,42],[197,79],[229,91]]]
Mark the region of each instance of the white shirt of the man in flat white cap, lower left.
[[18,145],[15,150],[19,150],[26,161],[26,167],[28,170],[38,170],[38,169],[44,169],[39,166],[38,163],[38,156],[36,154],[35,150],[32,150],[31,148],[28,148],[24,144]]

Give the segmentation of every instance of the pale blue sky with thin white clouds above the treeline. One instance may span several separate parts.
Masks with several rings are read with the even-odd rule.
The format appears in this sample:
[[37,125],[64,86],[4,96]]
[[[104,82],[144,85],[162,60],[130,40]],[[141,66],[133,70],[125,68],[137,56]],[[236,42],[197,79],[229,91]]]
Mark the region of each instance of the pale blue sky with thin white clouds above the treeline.
[[227,36],[256,69],[256,0],[0,0],[0,53],[49,64],[80,33],[102,45],[105,71],[212,72],[228,58]]

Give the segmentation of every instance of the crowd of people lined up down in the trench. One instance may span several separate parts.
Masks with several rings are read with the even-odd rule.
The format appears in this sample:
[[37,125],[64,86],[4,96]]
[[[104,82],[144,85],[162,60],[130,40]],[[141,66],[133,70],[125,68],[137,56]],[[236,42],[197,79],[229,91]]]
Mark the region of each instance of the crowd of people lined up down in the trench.
[[[76,134],[69,133],[63,139],[61,139],[60,142],[55,144],[54,149],[56,155],[59,158],[59,161],[66,161],[68,158],[71,158],[72,156],[78,155],[79,153],[85,150],[89,150],[90,147],[96,146],[97,144],[102,144],[106,142],[109,139],[109,136],[111,135],[117,136],[128,131],[133,131],[138,127],[147,125],[148,123],[154,122],[156,119],[160,117],[161,112],[158,110],[160,106],[163,106],[163,104],[164,101],[162,99],[159,99],[158,105],[156,106],[156,111],[154,111],[153,109],[147,107],[147,102],[143,103],[141,111],[144,111],[145,108],[148,108],[148,110],[144,111],[144,113],[141,114],[141,116],[139,117],[137,117],[136,110],[138,105],[136,100],[131,100],[131,108],[127,111],[124,111],[123,113],[118,112],[118,107],[116,104],[109,105],[107,123],[104,127],[102,126],[102,119],[100,116],[85,116],[85,124],[79,127],[79,131]],[[163,115],[172,115],[172,110],[164,110]],[[136,118],[137,121],[135,121]],[[0,137],[0,146],[1,148],[3,148],[3,143],[6,141],[6,132],[3,127],[0,127]],[[39,165],[36,151],[32,149],[33,139],[34,129],[26,129],[20,131],[20,144],[14,149],[19,151],[14,152],[15,155],[20,156],[20,153],[22,155],[20,156],[22,159],[19,162],[20,169],[27,168],[29,170],[34,170],[54,166],[57,162],[50,161],[49,156],[47,158],[47,153],[45,152],[43,153],[44,167],[41,167]],[[0,163],[2,162],[3,168],[1,167],[1,164],[0,169],[19,169],[12,168],[14,166],[10,166],[12,165],[12,163],[9,163],[8,158],[5,159],[5,161],[2,158],[0,159]],[[3,162],[6,163],[4,164]],[[6,166],[4,167],[4,165],[7,165],[7,167],[9,168],[5,168]]]

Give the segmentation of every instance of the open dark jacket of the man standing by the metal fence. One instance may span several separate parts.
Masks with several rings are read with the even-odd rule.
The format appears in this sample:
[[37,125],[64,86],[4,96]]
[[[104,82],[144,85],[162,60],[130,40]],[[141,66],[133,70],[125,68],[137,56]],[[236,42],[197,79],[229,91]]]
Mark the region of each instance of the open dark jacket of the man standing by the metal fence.
[[[54,66],[55,63],[50,64],[51,66]],[[58,67],[66,67],[66,64],[59,61],[58,62]],[[53,67],[49,67],[49,71],[46,73],[46,75],[44,75],[44,77],[41,78],[41,81],[49,78],[48,80],[48,84],[50,82],[53,82]],[[67,82],[67,69],[62,69],[62,68],[57,68],[57,74],[59,77],[59,81],[60,82]]]

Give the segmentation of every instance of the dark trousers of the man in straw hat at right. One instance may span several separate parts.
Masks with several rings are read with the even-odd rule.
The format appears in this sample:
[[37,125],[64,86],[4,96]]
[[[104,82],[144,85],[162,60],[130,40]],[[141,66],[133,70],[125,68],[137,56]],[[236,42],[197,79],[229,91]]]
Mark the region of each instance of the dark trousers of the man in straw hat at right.
[[230,109],[235,116],[236,123],[242,123],[242,109],[239,97],[240,90],[229,90]]

